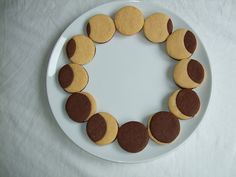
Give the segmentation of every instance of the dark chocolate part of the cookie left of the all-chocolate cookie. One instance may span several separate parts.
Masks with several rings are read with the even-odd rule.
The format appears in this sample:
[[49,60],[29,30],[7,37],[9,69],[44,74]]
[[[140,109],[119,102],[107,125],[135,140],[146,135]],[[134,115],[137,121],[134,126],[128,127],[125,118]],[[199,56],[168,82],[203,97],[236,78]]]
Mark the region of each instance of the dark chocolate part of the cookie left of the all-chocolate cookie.
[[93,142],[101,140],[106,133],[106,121],[100,114],[94,114],[88,120],[86,131]]

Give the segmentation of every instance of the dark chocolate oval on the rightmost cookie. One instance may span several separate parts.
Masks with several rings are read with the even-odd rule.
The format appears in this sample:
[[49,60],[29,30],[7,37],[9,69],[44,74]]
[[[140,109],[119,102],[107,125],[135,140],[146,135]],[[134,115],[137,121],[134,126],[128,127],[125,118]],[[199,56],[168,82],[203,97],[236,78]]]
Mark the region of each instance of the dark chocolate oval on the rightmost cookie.
[[204,69],[196,60],[190,60],[187,67],[189,77],[196,83],[201,83],[204,79]]

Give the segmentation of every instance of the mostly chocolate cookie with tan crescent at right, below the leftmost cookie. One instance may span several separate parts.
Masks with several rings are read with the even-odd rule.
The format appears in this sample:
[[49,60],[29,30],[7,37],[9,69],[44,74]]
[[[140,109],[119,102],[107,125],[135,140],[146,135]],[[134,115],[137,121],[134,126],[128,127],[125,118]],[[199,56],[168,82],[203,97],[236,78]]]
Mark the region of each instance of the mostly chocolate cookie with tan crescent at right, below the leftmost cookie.
[[96,112],[96,102],[87,92],[73,93],[66,101],[66,112],[71,120],[85,122]]

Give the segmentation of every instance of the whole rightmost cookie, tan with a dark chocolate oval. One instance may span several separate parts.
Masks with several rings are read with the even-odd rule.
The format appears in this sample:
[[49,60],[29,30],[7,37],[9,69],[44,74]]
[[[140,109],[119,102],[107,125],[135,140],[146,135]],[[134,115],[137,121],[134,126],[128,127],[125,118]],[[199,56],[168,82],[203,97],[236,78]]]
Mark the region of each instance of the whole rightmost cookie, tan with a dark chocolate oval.
[[174,68],[174,81],[182,88],[196,88],[204,79],[204,68],[196,60],[183,59]]

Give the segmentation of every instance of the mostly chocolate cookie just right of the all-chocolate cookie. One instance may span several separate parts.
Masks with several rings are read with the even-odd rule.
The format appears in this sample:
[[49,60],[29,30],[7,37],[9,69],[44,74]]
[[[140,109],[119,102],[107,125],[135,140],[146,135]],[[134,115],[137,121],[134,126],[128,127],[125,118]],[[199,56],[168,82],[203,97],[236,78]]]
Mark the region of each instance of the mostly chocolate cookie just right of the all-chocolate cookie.
[[148,122],[148,134],[159,144],[171,143],[180,132],[179,119],[171,112],[158,112]]

